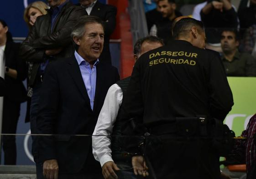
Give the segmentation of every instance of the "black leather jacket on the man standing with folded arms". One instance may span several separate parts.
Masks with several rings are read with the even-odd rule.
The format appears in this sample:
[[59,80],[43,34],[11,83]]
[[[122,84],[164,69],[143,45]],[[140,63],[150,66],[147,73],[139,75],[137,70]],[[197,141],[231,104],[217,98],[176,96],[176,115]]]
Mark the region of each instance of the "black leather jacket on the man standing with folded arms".
[[68,2],[57,16],[52,32],[50,10],[46,15],[37,18],[26,40],[23,41],[20,51],[23,60],[34,62],[29,81],[30,86],[35,82],[40,63],[49,59],[45,55],[45,50],[62,48],[62,51],[54,56],[55,59],[72,55],[74,49],[70,35],[73,25],[82,15],[85,15],[85,13],[81,7]]

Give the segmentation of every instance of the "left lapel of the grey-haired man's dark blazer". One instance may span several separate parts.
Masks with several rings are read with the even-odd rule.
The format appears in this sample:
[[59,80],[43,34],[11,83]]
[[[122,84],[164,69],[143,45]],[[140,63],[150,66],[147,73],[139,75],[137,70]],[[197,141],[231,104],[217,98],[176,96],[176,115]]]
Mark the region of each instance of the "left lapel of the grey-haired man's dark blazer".
[[84,97],[84,99],[86,100],[86,102],[90,106],[90,99],[89,99],[89,96],[87,94],[87,90],[86,90],[86,87],[84,85],[84,80],[83,80],[82,74],[80,72],[80,68],[78,66],[78,63],[75,59],[75,56],[72,56],[68,60],[68,72],[70,73],[71,77],[73,78],[73,81],[76,83],[76,86],[78,87],[78,90],[80,91],[80,93],[82,94],[82,96]]

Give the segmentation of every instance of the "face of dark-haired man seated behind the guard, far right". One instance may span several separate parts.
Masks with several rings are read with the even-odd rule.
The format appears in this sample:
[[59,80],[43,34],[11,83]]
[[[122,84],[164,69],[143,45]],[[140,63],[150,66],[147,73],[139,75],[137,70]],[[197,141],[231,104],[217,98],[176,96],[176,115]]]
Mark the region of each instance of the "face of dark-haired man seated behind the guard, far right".
[[239,46],[239,42],[235,40],[235,33],[231,31],[222,32],[220,43],[224,52],[236,51]]

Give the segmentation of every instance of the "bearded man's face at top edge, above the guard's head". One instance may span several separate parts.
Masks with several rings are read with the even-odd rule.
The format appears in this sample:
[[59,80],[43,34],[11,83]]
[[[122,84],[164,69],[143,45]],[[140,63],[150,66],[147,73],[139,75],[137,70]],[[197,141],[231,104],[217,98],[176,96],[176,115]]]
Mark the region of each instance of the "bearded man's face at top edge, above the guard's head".
[[162,13],[162,17],[168,18],[175,13],[176,4],[169,3],[168,0],[161,0],[157,4],[157,9]]

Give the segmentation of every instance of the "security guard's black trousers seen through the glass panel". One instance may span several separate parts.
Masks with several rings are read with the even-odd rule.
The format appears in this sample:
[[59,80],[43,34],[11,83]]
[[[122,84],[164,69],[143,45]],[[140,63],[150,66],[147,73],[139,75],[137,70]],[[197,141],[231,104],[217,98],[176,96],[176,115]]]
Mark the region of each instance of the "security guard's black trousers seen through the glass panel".
[[158,136],[147,141],[145,153],[151,178],[220,178],[219,156],[209,139],[172,137]]

